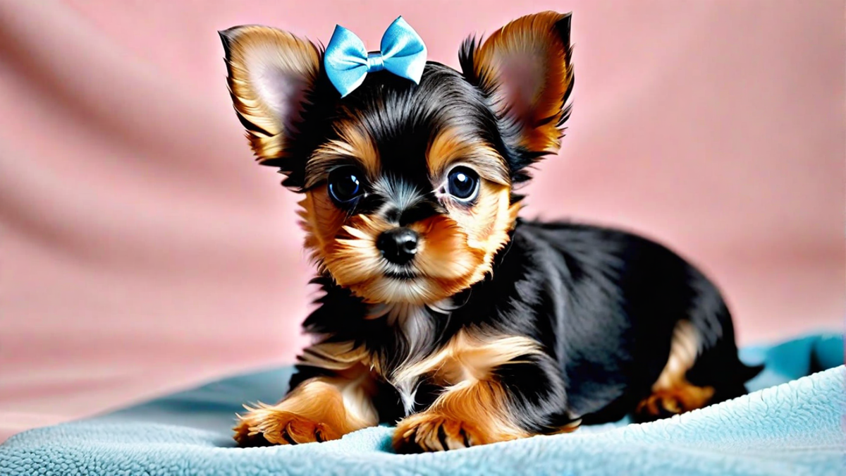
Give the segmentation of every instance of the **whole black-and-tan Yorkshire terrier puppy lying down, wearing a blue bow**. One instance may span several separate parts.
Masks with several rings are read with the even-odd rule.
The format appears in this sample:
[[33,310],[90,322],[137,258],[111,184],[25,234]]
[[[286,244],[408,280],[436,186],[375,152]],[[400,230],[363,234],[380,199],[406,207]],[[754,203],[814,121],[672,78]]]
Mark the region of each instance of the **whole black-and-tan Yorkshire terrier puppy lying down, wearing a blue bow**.
[[403,19],[367,53],[282,30],[221,32],[235,111],[303,197],[321,285],[288,395],[248,407],[241,446],[396,423],[400,452],[663,418],[743,395],[720,292],[621,230],[520,219],[515,187],[558,150],[570,15],[516,19],[426,61]]

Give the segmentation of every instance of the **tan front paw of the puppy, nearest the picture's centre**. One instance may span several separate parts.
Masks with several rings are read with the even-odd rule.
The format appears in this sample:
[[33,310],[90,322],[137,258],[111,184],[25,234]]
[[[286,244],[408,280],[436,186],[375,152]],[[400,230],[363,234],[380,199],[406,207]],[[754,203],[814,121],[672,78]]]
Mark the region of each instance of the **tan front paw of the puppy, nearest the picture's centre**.
[[472,424],[437,412],[411,415],[399,422],[393,434],[393,449],[398,453],[458,450],[485,443]]

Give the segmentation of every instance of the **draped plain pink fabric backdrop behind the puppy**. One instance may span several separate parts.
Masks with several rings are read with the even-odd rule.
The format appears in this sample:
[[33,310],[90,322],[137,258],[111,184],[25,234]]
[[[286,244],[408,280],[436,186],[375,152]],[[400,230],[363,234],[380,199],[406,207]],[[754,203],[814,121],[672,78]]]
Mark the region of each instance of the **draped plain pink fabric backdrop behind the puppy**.
[[294,195],[252,163],[216,30],[431,58],[574,11],[574,114],[527,216],[651,235],[722,286],[739,340],[846,312],[842,1],[0,0],[0,440],[289,362],[309,296]]

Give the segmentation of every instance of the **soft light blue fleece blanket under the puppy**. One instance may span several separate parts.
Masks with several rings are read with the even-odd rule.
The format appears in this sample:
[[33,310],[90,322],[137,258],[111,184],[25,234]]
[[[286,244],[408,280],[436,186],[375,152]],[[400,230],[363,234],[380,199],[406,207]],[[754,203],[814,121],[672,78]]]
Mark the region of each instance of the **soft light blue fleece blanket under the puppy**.
[[680,417],[410,456],[392,453],[388,427],[235,448],[229,427],[240,404],[283,394],[290,369],[275,369],[18,434],[0,446],[0,474],[846,474],[843,338],[809,336],[741,357],[766,363],[750,382],[757,391]]

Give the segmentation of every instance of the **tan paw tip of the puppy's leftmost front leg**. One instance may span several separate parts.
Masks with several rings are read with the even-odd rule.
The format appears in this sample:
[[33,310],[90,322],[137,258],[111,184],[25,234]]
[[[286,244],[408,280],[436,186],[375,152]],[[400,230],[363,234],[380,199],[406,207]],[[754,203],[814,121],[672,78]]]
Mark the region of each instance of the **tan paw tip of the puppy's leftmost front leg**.
[[326,423],[301,417],[276,407],[260,405],[247,408],[235,425],[239,446],[299,445],[316,441],[338,440],[343,435]]

